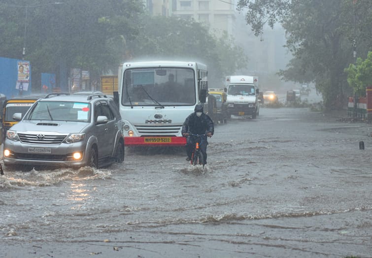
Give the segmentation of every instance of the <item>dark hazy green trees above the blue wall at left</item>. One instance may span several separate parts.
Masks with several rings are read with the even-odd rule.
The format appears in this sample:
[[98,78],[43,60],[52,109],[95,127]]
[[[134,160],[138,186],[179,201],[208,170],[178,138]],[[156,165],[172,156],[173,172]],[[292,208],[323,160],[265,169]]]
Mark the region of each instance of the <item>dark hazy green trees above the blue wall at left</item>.
[[124,38],[135,37],[143,13],[137,0],[2,0],[0,29],[6,37],[0,38],[0,56],[21,59],[25,39],[34,89],[41,86],[40,73],[62,72],[67,78],[69,68],[88,70],[98,79],[102,71],[116,71],[122,59],[118,42],[123,46]]

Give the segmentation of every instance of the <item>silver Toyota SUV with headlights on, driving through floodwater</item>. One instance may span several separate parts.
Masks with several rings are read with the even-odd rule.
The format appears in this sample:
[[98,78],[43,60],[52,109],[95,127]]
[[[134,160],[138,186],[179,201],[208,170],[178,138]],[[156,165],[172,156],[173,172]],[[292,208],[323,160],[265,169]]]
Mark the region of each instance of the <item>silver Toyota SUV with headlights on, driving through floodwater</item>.
[[3,162],[23,165],[104,167],[124,161],[123,122],[111,98],[49,94],[6,133]]

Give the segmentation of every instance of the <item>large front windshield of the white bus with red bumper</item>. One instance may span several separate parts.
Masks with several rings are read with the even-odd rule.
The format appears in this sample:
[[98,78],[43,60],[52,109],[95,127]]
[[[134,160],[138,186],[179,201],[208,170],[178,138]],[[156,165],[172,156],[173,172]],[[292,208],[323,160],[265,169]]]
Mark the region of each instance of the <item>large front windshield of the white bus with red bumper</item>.
[[124,106],[191,106],[195,73],[189,68],[138,68],[124,73]]

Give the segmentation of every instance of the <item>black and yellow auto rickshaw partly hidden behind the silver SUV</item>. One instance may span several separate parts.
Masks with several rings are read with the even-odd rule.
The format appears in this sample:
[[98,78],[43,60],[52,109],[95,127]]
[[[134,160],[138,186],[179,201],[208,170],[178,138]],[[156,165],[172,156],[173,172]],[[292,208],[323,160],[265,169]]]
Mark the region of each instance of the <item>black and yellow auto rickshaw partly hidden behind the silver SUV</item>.
[[22,117],[34,104],[34,102],[45,95],[29,95],[24,97],[15,97],[5,100],[2,105],[2,140],[6,137],[6,131],[9,130],[18,121],[13,119],[14,113],[22,113]]

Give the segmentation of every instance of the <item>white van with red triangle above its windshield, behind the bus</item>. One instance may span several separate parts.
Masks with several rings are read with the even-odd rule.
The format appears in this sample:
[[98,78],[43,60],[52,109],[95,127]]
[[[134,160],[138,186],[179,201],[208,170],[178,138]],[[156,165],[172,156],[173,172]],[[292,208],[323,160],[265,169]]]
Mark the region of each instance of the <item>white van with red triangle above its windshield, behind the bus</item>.
[[260,113],[257,76],[226,76],[225,92],[230,116],[249,115],[256,119]]

